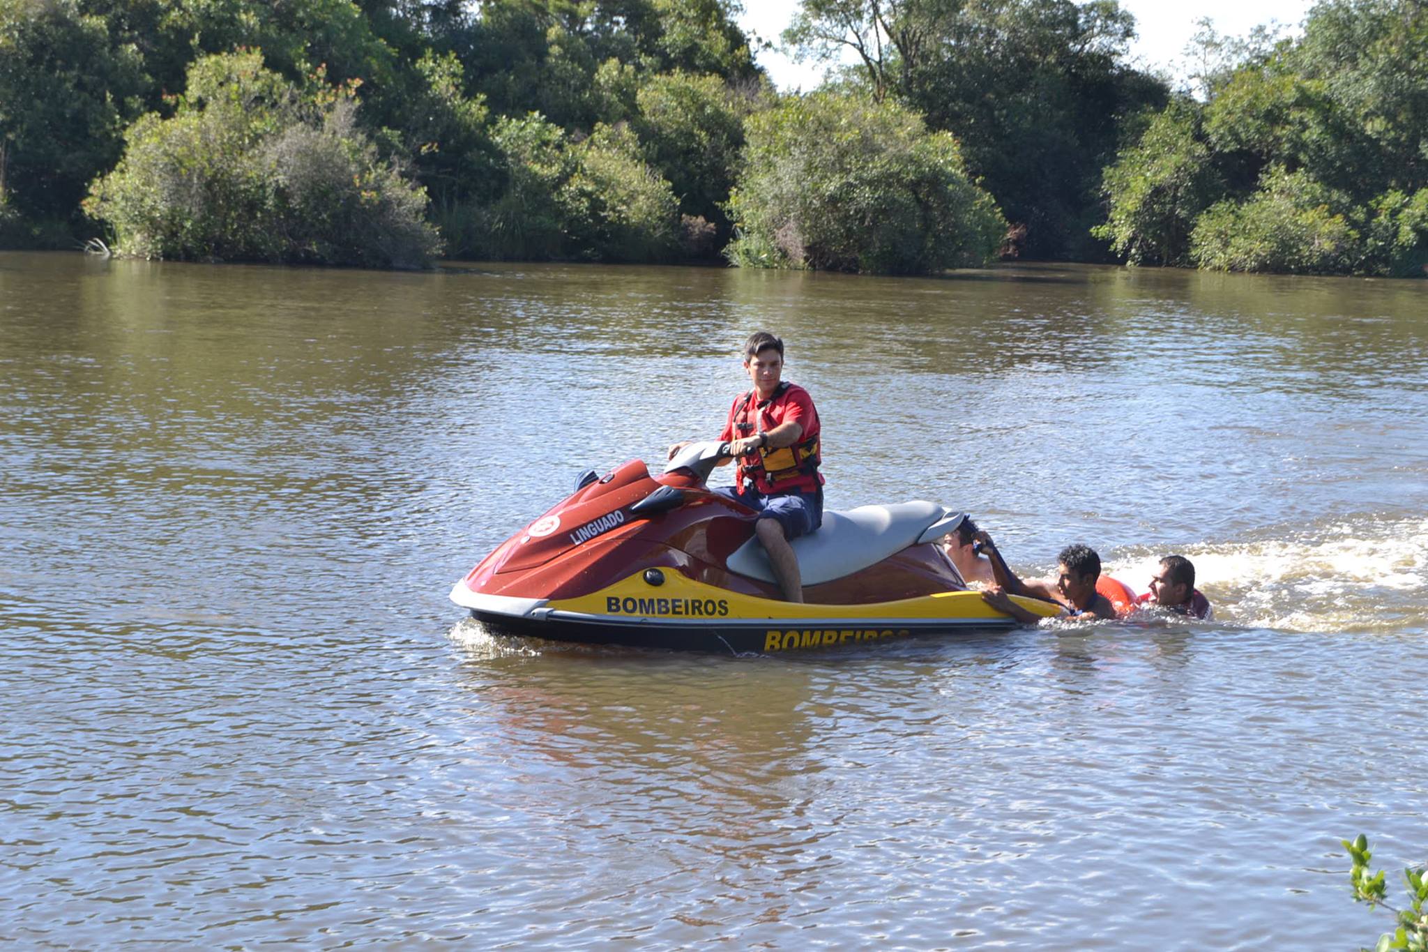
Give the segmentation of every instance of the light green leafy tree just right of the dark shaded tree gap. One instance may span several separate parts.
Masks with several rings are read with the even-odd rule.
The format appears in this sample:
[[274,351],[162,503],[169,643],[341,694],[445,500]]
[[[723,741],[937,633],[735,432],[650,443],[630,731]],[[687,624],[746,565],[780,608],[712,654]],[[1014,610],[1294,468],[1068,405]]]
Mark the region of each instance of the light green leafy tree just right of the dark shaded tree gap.
[[1095,236],[1131,264],[1188,264],[1195,218],[1224,190],[1210,158],[1192,104],[1158,114],[1105,170],[1111,213]]

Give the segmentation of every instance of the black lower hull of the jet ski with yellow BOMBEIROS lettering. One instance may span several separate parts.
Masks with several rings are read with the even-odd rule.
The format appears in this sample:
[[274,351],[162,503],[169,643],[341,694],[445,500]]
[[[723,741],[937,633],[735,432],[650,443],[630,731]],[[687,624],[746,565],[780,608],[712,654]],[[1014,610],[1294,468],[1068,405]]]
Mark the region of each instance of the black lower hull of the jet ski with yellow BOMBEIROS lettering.
[[681,625],[650,622],[618,622],[604,619],[538,621],[496,612],[471,611],[471,617],[488,629],[521,638],[573,641],[587,645],[625,645],[630,648],[663,648],[665,651],[698,651],[708,654],[775,654],[811,648],[834,648],[875,641],[898,641],[912,635],[985,635],[1015,627],[1010,618],[991,619],[905,619],[863,622],[861,627],[820,627],[817,622],[757,621],[720,625]]

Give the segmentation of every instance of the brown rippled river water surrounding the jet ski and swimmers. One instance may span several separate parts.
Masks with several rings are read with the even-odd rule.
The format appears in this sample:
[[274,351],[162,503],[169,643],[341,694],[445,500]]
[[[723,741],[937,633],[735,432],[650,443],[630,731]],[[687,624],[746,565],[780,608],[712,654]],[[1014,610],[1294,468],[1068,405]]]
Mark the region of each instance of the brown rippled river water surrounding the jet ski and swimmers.
[[[0,254],[0,942],[1351,949],[1428,858],[1428,284]],[[1211,624],[777,658],[451,584],[714,435],[760,327],[828,505]],[[1395,898],[1398,882],[1392,882]]]

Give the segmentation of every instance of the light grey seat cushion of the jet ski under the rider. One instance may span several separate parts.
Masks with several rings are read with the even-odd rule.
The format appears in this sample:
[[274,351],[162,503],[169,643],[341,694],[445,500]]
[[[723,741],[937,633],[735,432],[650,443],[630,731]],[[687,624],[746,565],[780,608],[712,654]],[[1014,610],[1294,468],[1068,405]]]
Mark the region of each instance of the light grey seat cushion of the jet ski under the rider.
[[[831,582],[881,562],[888,555],[947,535],[967,518],[945,505],[914,500],[892,505],[860,505],[844,512],[825,511],[817,532],[790,545],[798,557],[804,585]],[[740,545],[728,558],[731,572],[777,582],[758,538]]]

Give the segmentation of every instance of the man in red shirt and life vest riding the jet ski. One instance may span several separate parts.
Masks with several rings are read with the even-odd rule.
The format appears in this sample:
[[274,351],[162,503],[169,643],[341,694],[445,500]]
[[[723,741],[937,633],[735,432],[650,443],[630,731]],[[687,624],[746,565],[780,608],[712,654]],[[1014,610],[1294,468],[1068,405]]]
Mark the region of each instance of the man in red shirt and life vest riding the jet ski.
[[[783,380],[784,343],[768,331],[744,344],[744,373],[754,387],[734,398],[718,437],[738,460],[738,474],[734,487],[715,492],[758,512],[754,532],[774,578],[784,598],[801,602],[803,575],[788,542],[823,525],[818,411],[807,390]],[[685,445],[670,447],[670,458]]]

